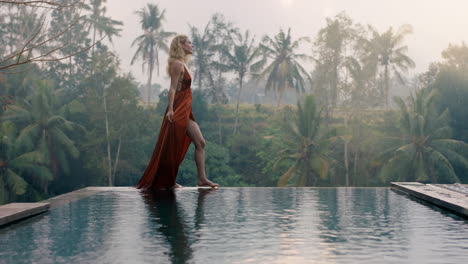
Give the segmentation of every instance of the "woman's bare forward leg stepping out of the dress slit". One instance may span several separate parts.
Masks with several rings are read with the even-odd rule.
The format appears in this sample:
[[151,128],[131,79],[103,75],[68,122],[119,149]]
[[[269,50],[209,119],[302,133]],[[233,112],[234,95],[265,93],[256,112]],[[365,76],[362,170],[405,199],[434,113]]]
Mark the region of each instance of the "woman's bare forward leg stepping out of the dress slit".
[[198,185],[199,186],[210,186],[216,187],[219,186],[217,183],[213,183],[206,178],[205,173],[205,139],[198,127],[198,124],[189,119],[187,126],[187,135],[192,139],[193,144],[195,144],[195,163],[197,164],[197,173],[198,173]]

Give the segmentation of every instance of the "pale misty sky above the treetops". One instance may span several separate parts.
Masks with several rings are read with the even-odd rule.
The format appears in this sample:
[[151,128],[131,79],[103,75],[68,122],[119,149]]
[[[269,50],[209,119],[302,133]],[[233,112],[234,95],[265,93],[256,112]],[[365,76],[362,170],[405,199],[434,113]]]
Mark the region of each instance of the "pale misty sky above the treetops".
[[[167,31],[189,34],[188,25],[204,27],[210,17],[222,13],[242,31],[249,29],[257,40],[265,34],[273,36],[280,28],[292,28],[293,37],[315,38],[325,25],[325,17],[341,11],[356,23],[371,24],[379,31],[411,24],[414,33],[407,38],[409,55],[416,62],[413,72],[427,69],[430,62],[440,60],[440,53],[449,43],[468,40],[467,0],[108,0],[107,15],[124,22],[122,36],[115,38],[114,49],[124,71],[131,71],[140,82],[147,75],[141,72],[141,62],[130,66],[135,52],[132,41],[141,34],[135,10],[147,3],[166,10]],[[308,48],[309,49],[309,48]],[[166,56],[161,58],[165,68]],[[167,85],[164,70],[155,82]]]

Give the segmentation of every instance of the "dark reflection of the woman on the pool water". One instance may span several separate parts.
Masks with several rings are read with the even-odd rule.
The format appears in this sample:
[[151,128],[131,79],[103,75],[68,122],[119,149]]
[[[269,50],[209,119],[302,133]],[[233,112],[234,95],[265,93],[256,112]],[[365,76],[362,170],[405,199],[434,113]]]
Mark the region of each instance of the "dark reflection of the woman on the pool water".
[[200,234],[197,230],[205,221],[205,197],[214,191],[216,190],[198,189],[194,229],[189,226],[186,220],[187,214],[177,201],[177,191],[162,190],[142,193],[150,215],[157,223],[157,231],[167,240],[172,263],[187,263],[193,258],[192,245],[198,241]]

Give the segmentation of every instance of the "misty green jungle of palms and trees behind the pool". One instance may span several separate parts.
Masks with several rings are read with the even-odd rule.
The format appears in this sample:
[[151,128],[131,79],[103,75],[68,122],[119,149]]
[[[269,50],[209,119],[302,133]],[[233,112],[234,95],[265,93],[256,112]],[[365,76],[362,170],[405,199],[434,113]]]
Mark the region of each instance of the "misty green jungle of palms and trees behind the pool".
[[[105,16],[105,2],[91,1],[83,13],[52,11],[46,30],[56,37],[47,43],[60,47],[58,59],[42,64],[27,58],[48,58],[46,47],[25,40],[44,18],[24,5],[0,9],[0,204],[133,186],[141,177],[167,104],[166,90],[151,99],[152,73],[173,33],[158,6],[137,11],[142,33],[132,63],[141,59],[148,69],[142,95],[106,44],[122,22]],[[408,25],[378,33],[340,13],[312,43],[293,31],[257,42],[221,14],[203,29],[190,26],[192,106],[210,179],[223,186],[468,182],[464,43],[408,82]],[[410,96],[392,103],[396,88]],[[195,180],[191,147],[178,182]]]

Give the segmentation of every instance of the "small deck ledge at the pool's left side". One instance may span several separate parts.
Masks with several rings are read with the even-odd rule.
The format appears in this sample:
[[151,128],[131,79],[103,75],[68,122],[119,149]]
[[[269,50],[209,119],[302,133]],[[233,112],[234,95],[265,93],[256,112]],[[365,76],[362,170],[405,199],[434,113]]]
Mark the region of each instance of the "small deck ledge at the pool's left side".
[[49,210],[49,203],[9,203],[0,206],[0,227]]

